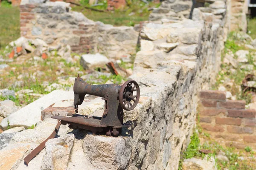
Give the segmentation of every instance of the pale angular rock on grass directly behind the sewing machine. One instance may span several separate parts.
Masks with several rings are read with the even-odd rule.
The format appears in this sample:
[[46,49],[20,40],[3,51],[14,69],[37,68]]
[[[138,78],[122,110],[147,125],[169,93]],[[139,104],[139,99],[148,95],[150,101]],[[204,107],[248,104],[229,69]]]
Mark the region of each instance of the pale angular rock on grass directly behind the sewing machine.
[[84,54],[81,57],[80,64],[84,69],[93,69],[97,67],[105,67],[109,62],[108,58],[102,54]]

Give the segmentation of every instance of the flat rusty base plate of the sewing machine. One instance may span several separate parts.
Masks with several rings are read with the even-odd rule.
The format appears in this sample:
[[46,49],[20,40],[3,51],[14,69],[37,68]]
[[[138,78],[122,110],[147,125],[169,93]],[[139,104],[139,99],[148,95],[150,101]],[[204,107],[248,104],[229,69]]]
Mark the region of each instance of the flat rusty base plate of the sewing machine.
[[61,125],[69,125],[70,129],[85,129],[92,131],[93,135],[96,135],[97,132],[106,132],[106,135],[111,136],[113,133],[114,136],[121,134],[122,127],[130,127],[132,124],[124,124],[121,126],[106,126],[101,125],[99,117],[96,118],[84,118],[84,116],[73,116],[73,117],[64,117],[64,116],[52,116],[52,119],[61,120]]

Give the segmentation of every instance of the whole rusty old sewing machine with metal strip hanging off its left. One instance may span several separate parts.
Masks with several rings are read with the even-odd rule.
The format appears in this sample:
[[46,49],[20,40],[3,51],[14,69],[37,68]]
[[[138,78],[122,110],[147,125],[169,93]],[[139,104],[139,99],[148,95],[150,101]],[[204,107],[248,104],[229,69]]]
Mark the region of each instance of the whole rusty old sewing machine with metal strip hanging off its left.
[[[89,85],[78,74],[78,77],[75,79],[74,94],[75,114],[68,114],[67,116],[69,117],[51,117],[58,119],[58,124],[52,134],[25,157],[24,161],[27,165],[29,161],[44,149],[45,143],[55,137],[60,125],[68,124],[69,128],[72,129],[90,130],[93,135],[96,135],[97,132],[105,132],[108,136],[111,136],[111,134],[113,136],[121,134],[122,127],[132,126],[131,121],[123,122],[123,109],[131,111],[136,107],[140,99],[140,87],[137,82],[131,79],[122,86],[116,84]],[[82,104],[86,94],[99,96],[105,100],[105,109],[102,117],[78,114],[78,105]]]

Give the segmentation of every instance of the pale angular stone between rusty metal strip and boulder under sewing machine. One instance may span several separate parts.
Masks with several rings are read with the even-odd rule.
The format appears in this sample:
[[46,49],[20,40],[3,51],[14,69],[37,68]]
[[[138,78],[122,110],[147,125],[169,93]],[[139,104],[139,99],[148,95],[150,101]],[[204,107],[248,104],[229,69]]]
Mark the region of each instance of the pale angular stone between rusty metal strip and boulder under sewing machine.
[[66,170],[73,149],[74,139],[74,134],[49,139],[45,144],[46,152],[41,170]]

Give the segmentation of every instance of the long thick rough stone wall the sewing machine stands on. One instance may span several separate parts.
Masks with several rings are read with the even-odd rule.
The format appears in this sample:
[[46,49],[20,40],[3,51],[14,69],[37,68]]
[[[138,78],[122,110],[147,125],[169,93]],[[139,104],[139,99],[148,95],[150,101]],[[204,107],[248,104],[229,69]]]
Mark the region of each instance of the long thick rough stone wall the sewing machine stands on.
[[[190,8],[191,2],[188,4]],[[133,111],[125,111],[124,114],[124,122],[131,120],[134,126],[131,129],[124,128],[122,136],[117,138],[92,136],[84,130],[67,131],[66,126],[61,126],[58,134],[61,137],[47,142],[46,149],[31,161],[30,168],[61,166],[62,169],[70,170],[84,167],[93,170],[177,170],[180,152],[186,149],[195,127],[199,100],[197,94],[201,89],[209,89],[219,70],[221,50],[227,35],[226,3],[215,1],[207,8],[194,8],[192,20],[186,17],[167,19],[165,14],[160,14],[163,17],[157,22],[145,22],[140,32],[141,50],[136,54],[134,72],[129,77],[140,85],[140,102]],[[115,35],[111,34],[113,37]],[[111,37],[104,38],[107,40]],[[120,42],[129,40],[126,35],[116,38],[120,38]],[[102,115],[104,102],[90,100],[90,105],[86,105],[86,102],[88,100],[85,99],[84,113]],[[53,112],[57,113],[58,110],[44,110],[42,118],[49,117]],[[61,108],[62,113],[66,112]],[[37,117],[39,119],[40,116]],[[0,150],[5,167],[24,169],[22,158],[31,148],[35,148],[35,143],[47,137],[50,127],[55,126],[55,123],[50,125],[47,121],[40,122],[35,130],[17,133],[10,144]],[[40,141],[26,135],[38,133],[41,135],[36,139]],[[67,133],[73,133],[74,136]],[[67,147],[59,146],[60,141]],[[4,153],[16,153],[20,143],[26,146],[23,147],[23,153],[8,160],[8,155]],[[51,160],[62,160],[58,161],[62,164]]]

